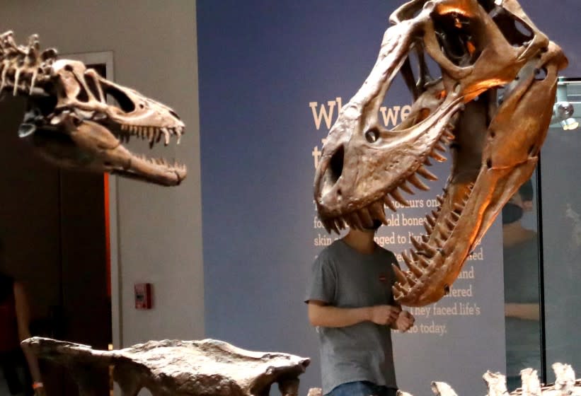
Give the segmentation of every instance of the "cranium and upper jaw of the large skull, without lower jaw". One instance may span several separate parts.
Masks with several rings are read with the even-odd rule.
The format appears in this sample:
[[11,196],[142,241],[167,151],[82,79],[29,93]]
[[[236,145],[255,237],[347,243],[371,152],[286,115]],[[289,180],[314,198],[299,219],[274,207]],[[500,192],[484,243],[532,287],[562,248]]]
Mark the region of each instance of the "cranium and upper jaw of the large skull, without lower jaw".
[[[531,59],[546,52],[548,38],[519,12],[515,1],[505,3],[505,8],[493,8],[491,1],[411,1],[393,13],[391,19],[398,23],[386,31],[374,69],[340,112],[323,148],[315,180],[315,199],[323,218],[374,202],[389,192],[390,185],[413,175],[446,137],[446,129],[455,127],[460,103],[470,103],[514,81]],[[508,14],[528,30],[501,30],[495,21],[504,22]],[[517,45],[517,38],[527,41]],[[446,39],[464,45],[464,53],[446,45]],[[423,88],[414,105],[413,116],[427,115],[389,131],[377,122],[377,112],[413,47],[422,47],[437,62],[442,77],[439,83]],[[445,99],[435,100],[442,97]],[[422,99],[431,99],[431,105],[417,105]],[[495,107],[492,102],[490,106]],[[492,113],[495,109],[486,110]],[[436,158],[441,156],[436,154]]]

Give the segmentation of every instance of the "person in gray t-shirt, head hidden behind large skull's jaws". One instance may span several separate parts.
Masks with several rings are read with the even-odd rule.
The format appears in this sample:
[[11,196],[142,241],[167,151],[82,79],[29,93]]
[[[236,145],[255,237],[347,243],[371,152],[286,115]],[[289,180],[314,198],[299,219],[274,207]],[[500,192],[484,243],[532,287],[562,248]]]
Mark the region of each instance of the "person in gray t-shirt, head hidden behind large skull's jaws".
[[374,242],[376,228],[350,230],[313,263],[305,302],[321,345],[325,395],[396,394],[391,329],[405,332],[415,319],[393,300],[397,260]]

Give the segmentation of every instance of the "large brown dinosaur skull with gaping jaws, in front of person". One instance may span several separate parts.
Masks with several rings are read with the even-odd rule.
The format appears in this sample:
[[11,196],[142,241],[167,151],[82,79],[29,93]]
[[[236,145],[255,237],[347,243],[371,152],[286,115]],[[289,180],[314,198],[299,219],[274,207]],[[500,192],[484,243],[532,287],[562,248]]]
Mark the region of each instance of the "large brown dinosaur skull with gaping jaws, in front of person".
[[[557,72],[567,64],[516,0],[413,0],[398,8],[379,58],[341,109],[315,175],[318,214],[328,231],[386,223],[400,190],[428,187],[418,175],[449,146],[453,163],[423,242],[403,253],[394,296],[405,305],[442,298],[498,212],[527,180],[551,120]],[[410,59],[419,64],[417,78]],[[431,78],[425,54],[439,65]],[[415,102],[388,130],[379,106],[401,71]],[[412,238],[413,239],[413,238]]]

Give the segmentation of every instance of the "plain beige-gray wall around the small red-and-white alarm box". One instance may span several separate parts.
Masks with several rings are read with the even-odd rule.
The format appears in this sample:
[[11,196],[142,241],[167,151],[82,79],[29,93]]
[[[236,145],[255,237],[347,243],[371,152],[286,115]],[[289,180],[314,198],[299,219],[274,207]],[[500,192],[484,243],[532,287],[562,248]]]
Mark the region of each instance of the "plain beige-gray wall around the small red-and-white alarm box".
[[[117,179],[121,345],[204,336],[195,1],[4,1],[0,32],[38,33],[59,53],[113,51],[115,80],[173,107],[186,124],[178,158],[188,179],[166,188]],[[16,132],[15,132],[16,133]],[[142,142],[130,144],[147,150]],[[133,308],[133,284],[154,284],[154,309]],[[115,292],[115,291],[114,291]]]

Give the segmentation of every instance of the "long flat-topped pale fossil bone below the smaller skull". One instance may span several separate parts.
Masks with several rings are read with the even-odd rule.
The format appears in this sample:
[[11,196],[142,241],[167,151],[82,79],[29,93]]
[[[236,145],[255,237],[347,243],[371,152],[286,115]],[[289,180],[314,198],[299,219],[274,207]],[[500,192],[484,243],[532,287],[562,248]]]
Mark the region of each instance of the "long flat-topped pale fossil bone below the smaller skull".
[[33,337],[37,356],[67,367],[81,396],[93,396],[93,375],[113,366],[122,395],[147,388],[154,396],[268,396],[278,383],[282,396],[297,396],[299,375],[309,359],[275,352],[253,352],[214,339],[149,341],[119,351]]

